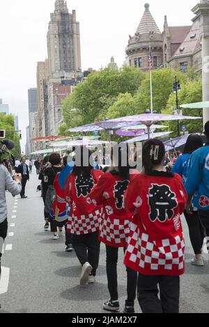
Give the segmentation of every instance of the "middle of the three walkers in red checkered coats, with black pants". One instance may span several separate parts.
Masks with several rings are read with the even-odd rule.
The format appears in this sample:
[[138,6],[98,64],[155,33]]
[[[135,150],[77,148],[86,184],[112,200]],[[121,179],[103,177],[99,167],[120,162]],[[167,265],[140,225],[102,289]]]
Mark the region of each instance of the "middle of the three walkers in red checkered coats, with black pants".
[[[134,212],[127,213],[124,208],[124,193],[130,180],[136,175],[130,175],[129,166],[123,166],[123,159],[128,157],[127,147],[118,147],[113,150],[113,162],[109,173],[100,178],[97,186],[91,191],[89,198],[95,205],[102,205],[102,218],[100,221],[100,241],[106,245],[107,253],[107,281],[110,300],[103,303],[103,309],[118,311],[118,280],[117,264],[118,250],[127,247],[127,239],[130,233],[130,221]],[[137,173],[139,171],[137,170]],[[134,301],[137,291],[137,271],[126,267],[127,271],[127,300],[125,301],[124,313],[134,313]]]

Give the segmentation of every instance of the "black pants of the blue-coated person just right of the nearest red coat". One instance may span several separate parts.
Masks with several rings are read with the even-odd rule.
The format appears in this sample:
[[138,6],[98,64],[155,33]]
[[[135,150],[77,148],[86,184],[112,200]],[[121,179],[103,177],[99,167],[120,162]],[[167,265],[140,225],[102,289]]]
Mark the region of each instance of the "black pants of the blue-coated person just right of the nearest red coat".
[[198,212],[192,212],[192,215],[185,211],[185,218],[189,227],[189,237],[195,255],[200,255],[205,238],[205,230],[199,219]]

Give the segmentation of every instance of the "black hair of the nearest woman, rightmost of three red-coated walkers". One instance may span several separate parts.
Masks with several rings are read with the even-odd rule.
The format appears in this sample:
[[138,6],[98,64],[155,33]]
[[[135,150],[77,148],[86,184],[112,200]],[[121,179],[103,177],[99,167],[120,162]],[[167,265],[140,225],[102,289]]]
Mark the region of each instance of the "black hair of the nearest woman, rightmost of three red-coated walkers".
[[162,163],[165,156],[165,148],[162,141],[153,138],[146,141],[142,149],[142,164],[146,175],[150,175],[155,166]]

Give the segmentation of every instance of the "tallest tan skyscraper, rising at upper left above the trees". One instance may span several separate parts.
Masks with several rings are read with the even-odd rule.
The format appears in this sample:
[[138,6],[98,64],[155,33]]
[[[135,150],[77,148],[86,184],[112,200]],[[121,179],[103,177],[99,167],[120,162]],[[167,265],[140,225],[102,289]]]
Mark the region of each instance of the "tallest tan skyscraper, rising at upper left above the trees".
[[72,78],[81,71],[79,22],[75,10],[68,13],[65,0],[56,0],[47,33],[49,79]]

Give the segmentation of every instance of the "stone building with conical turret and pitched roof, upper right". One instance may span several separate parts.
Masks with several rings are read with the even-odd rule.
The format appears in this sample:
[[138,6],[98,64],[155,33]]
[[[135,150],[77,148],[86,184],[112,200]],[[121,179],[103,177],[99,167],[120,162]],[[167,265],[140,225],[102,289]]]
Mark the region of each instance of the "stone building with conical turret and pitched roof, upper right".
[[125,63],[141,70],[148,70],[149,49],[153,57],[153,68],[173,67],[187,72],[189,67],[201,70],[201,35],[199,17],[192,19],[190,26],[169,26],[164,18],[161,33],[150,13],[149,4],[134,36],[130,36]]

